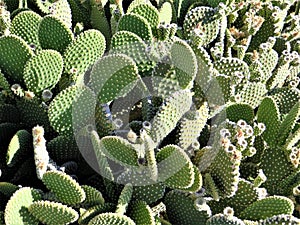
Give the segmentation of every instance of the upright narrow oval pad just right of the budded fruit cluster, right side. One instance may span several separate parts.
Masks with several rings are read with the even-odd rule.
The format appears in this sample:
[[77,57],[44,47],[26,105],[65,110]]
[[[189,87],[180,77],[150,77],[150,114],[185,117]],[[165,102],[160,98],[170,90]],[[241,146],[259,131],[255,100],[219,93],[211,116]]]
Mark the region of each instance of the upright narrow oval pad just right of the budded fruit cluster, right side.
[[279,109],[273,98],[266,97],[263,99],[257,111],[257,122],[265,124],[266,130],[263,133],[263,138],[270,146],[274,146],[280,121]]

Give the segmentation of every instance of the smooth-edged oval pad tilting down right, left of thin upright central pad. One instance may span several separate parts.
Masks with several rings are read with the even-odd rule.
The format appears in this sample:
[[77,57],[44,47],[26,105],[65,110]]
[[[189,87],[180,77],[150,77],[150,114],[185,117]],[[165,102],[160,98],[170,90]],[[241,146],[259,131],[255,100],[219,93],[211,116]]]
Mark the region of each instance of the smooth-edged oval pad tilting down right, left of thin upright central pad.
[[124,166],[138,166],[135,148],[121,137],[106,136],[100,140],[101,150],[111,160]]

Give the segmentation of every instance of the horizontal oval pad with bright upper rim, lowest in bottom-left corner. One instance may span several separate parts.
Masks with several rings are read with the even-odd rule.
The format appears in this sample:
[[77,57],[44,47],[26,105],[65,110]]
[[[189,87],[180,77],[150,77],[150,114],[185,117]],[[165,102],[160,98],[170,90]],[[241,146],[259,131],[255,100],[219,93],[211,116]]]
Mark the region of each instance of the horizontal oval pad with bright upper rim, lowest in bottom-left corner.
[[36,201],[28,210],[46,225],[69,224],[79,217],[77,211],[59,202]]

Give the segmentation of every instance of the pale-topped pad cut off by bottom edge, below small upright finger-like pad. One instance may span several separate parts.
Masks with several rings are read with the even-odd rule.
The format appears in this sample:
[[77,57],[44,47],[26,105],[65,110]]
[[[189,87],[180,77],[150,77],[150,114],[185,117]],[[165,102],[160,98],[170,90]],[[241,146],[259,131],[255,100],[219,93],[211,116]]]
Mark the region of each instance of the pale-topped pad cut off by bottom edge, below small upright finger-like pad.
[[90,220],[88,225],[122,224],[135,225],[134,221],[127,216],[116,213],[102,213]]

